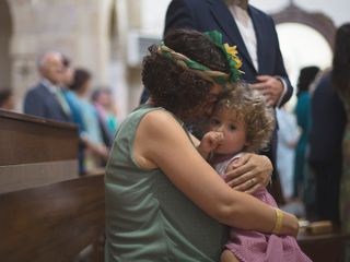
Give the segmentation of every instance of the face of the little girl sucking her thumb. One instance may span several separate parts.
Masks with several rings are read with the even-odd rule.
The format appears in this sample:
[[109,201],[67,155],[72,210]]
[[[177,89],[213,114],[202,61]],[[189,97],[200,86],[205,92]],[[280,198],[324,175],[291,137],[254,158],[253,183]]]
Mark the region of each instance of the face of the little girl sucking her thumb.
[[210,130],[222,132],[224,136],[214,153],[237,154],[247,145],[245,122],[225,108],[213,112],[210,119]]

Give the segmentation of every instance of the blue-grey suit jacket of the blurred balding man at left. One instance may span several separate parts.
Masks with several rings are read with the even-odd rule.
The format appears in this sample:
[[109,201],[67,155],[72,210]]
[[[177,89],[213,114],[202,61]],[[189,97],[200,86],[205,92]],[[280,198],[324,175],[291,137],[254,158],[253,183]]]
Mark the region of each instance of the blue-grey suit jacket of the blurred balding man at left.
[[61,122],[71,121],[71,118],[66,115],[56,96],[43,83],[39,83],[26,94],[24,98],[24,112]]

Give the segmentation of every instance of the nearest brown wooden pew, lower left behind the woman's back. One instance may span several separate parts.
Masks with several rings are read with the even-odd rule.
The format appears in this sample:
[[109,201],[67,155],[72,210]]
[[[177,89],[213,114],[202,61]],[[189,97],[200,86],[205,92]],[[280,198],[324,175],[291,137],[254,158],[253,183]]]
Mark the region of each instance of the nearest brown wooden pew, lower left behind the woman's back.
[[[75,261],[104,234],[104,176],[0,194],[0,261]],[[94,247],[90,261],[103,261]]]

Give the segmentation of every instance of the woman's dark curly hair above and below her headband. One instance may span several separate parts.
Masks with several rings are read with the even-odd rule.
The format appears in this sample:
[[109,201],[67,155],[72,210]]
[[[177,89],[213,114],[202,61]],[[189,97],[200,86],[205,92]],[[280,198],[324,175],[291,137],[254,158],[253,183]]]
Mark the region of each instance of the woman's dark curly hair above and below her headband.
[[[175,29],[165,36],[164,44],[211,70],[229,73],[224,53],[202,33]],[[143,59],[142,82],[152,102],[180,118],[201,106],[213,82],[159,53],[155,45],[149,51]]]

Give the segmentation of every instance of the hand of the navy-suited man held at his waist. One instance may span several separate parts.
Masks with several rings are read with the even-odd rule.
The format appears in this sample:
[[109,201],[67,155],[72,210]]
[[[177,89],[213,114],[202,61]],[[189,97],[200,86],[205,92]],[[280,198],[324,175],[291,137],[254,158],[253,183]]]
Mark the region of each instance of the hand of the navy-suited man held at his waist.
[[259,82],[249,86],[259,91],[266,97],[268,106],[277,106],[284,91],[282,81],[271,75],[258,75],[256,79]]

